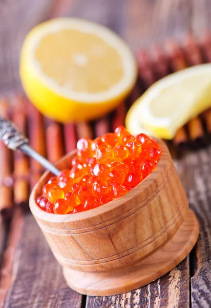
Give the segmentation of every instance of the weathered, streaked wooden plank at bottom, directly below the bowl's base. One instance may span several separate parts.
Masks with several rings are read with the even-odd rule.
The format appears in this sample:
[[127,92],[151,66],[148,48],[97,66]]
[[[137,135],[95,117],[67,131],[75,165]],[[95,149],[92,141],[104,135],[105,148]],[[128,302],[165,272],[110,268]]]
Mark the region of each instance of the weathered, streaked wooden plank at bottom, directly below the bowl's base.
[[86,308],[159,308],[189,307],[189,285],[187,275],[188,258],[161,279],[132,292],[116,296],[96,296],[87,298]]

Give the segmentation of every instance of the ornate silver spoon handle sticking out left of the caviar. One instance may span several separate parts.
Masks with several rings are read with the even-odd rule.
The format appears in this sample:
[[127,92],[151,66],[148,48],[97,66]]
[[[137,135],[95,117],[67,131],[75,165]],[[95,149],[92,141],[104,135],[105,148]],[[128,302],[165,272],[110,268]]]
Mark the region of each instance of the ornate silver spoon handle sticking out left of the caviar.
[[0,139],[4,141],[8,148],[23,151],[46,169],[50,170],[55,176],[59,175],[60,170],[33,150],[29,145],[29,140],[17,130],[12,122],[4,119],[3,117],[0,117]]

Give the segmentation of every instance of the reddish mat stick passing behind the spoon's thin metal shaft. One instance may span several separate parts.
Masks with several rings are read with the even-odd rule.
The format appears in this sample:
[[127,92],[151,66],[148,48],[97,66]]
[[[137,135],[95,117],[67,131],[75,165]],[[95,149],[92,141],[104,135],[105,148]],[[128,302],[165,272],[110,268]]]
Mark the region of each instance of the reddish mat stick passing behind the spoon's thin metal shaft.
[[[45,156],[43,117],[30,102],[27,102],[27,115],[30,145],[35,151]],[[37,161],[30,158],[31,189],[43,172],[43,167]]]

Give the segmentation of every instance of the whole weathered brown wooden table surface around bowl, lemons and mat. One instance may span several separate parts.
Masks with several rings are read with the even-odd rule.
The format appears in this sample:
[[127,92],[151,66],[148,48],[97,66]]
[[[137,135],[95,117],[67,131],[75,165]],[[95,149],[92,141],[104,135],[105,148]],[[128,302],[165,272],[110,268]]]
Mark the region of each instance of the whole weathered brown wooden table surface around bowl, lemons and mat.
[[[134,51],[162,45],[187,32],[201,38],[211,27],[209,0],[2,0],[0,2],[0,94],[19,91],[19,51],[27,32],[55,16],[76,16],[106,25]],[[0,305],[10,308],[211,307],[211,148],[176,160],[200,238],[190,256],[161,279],[109,297],[86,297],[67,287],[61,266],[31,214],[16,210],[0,279]],[[37,256],[39,256],[37,258]]]

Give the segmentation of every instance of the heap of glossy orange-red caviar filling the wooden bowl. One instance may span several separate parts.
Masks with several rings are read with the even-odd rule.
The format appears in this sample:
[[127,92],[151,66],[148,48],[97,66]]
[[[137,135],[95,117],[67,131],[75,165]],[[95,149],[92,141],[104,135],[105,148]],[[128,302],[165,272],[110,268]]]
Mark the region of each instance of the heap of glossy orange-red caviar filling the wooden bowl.
[[161,156],[157,142],[144,133],[134,137],[123,126],[94,140],[80,139],[77,149],[72,168],[50,178],[36,200],[48,213],[78,213],[123,196],[154,170]]

